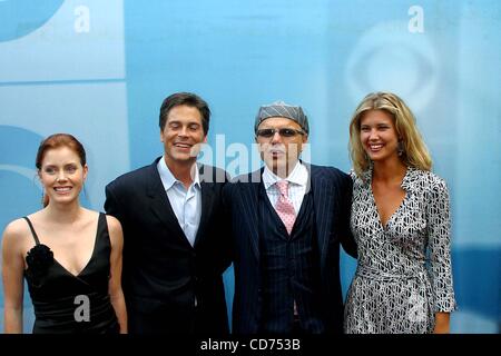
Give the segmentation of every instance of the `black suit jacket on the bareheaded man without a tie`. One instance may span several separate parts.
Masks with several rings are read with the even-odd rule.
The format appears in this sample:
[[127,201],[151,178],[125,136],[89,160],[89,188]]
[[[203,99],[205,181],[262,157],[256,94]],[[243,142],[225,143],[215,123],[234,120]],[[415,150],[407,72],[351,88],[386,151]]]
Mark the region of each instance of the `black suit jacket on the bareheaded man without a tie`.
[[230,260],[220,220],[226,172],[199,166],[202,216],[191,247],[161,184],[159,159],[106,187],[106,212],[118,218],[124,229],[122,288],[129,330],[225,334],[222,274]]

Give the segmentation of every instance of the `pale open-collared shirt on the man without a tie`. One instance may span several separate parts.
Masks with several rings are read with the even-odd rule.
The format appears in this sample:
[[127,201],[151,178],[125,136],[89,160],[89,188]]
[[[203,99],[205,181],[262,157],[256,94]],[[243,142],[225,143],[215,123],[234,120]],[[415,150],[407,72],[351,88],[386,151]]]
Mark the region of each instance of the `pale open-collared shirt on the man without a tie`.
[[202,216],[202,187],[198,169],[195,169],[195,177],[188,189],[174,177],[165,162],[165,156],[158,161],[157,169],[177,221],[189,244],[194,246]]

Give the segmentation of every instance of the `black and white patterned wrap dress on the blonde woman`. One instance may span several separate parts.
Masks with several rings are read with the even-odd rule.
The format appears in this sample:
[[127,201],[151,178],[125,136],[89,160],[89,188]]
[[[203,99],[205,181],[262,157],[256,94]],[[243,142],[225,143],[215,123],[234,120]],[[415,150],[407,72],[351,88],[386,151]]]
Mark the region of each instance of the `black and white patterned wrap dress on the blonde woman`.
[[352,172],[351,228],[358,264],[350,287],[345,333],[432,333],[434,313],[455,309],[449,191],[430,171],[407,168],[405,190],[383,227],[372,195],[372,169]]

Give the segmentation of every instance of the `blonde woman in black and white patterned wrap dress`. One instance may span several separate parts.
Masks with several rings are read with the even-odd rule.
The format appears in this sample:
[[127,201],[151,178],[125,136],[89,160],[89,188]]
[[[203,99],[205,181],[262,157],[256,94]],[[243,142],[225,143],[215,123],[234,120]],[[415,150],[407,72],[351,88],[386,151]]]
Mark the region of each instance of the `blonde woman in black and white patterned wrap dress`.
[[449,333],[455,309],[449,192],[405,102],[366,96],[350,123],[358,264],[345,333]]

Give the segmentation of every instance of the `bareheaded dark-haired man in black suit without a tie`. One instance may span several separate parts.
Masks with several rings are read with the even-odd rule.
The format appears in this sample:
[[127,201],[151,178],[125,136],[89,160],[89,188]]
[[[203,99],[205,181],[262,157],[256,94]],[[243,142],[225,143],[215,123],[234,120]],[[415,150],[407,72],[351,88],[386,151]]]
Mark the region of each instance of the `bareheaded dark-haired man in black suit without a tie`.
[[210,110],[178,92],[160,108],[164,156],[106,187],[105,209],[124,228],[122,288],[132,334],[226,334],[222,220],[226,172],[197,165]]

